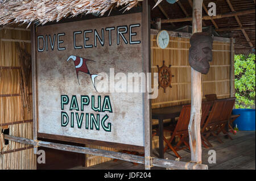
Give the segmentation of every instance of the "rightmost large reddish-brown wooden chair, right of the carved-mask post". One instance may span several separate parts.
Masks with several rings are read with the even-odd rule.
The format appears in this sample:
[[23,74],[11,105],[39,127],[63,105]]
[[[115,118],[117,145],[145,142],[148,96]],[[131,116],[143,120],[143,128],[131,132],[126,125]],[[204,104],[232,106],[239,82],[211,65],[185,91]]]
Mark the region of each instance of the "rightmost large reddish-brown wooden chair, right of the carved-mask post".
[[222,140],[218,137],[220,132],[223,132],[230,139],[232,139],[232,137],[230,137],[228,132],[225,130],[225,125],[228,124],[235,100],[236,98],[228,98],[214,101],[212,110],[210,111],[209,116],[201,129],[201,138],[207,142],[209,147],[212,147],[212,144],[210,144],[210,142],[207,140],[210,135],[216,137],[221,143]]

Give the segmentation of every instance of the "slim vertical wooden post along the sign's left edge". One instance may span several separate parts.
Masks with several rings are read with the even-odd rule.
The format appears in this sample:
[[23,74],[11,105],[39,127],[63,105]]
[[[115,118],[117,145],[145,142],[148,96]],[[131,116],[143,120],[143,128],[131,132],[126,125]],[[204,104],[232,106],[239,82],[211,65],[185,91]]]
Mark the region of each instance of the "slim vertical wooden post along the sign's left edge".
[[[33,140],[38,140],[38,119],[36,104],[36,43],[35,25],[31,23],[31,66],[32,66],[32,99],[33,99]],[[34,154],[38,153],[38,148],[34,144]]]

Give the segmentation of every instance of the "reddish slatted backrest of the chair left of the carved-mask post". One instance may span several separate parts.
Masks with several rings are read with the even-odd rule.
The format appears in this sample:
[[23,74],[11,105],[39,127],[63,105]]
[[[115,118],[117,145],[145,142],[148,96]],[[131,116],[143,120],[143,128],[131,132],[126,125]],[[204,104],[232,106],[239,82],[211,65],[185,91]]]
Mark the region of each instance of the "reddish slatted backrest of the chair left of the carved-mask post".
[[179,134],[179,132],[188,131],[190,113],[191,113],[191,104],[184,105],[180,112],[179,120],[177,121],[176,127],[174,129],[174,134]]

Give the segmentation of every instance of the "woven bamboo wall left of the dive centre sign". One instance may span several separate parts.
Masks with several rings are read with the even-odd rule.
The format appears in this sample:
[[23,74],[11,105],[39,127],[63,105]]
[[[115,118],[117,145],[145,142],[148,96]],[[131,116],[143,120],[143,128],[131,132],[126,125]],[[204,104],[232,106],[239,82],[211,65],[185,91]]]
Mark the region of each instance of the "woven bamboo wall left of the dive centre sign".
[[[9,128],[12,136],[32,139],[32,111],[23,107],[20,95],[20,64],[15,45],[18,41],[30,53],[30,43],[22,42],[23,40],[30,40],[29,31],[0,31],[0,129],[2,132]],[[28,89],[28,103],[32,105],[31,81]],[[36,169],[36,156],[31,145],[9,141],[0,153],[0,169]]]

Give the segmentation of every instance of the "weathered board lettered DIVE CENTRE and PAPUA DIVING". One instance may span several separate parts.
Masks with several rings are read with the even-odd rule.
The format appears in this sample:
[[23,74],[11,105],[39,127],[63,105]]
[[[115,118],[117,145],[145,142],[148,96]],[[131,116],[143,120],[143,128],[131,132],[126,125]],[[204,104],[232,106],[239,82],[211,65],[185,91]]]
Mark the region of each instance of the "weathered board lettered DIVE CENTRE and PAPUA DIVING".
[[135,13],[37,27],[39,137],[143,148],[143,94],[96,89],[110,68],[143,72],[141,22]]

